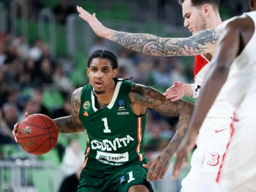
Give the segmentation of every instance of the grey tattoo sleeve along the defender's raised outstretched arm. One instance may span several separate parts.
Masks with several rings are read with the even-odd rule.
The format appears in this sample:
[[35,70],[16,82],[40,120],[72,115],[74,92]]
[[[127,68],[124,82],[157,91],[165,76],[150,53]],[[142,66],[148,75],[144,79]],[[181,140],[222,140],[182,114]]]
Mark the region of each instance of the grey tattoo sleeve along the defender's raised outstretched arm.
[[111,40],[128,49],[153,56],[193,56],[212,52],[218,40],[218,29],[205,29],[188,38],[161,38],[144,33],[113,31]]

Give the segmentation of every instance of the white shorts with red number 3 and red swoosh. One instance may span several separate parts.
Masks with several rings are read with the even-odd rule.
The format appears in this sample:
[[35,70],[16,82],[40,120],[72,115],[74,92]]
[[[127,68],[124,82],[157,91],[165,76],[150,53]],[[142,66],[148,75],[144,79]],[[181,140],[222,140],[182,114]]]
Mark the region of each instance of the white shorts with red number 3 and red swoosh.
[[[201,173],[214,173],[217,177],[222,156],[230,140],[231,122],[231,117],[230,119],[205,118],[196,141],[197,148],[191,159],[191,170],[182,180],[181,192],[201,192],[197,189]],[[216,177],[212,177],[212,180]]]

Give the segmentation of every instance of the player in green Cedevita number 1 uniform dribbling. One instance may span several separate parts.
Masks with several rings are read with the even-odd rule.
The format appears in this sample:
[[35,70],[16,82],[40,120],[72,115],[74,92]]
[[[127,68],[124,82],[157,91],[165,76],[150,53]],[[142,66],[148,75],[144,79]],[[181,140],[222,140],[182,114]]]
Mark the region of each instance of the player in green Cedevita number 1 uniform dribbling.
[[[117,79],[117,73],[118,61],[113,52],[93,52],[87,67],[90,83],[74,91],[72,115],[54,119],[60,133],[87,132],[79,192],[153,191],[148,180],[163,179],[188,127],[193,104],[171,102],[153,88]],[[179,116],[172,141],[148,164],[143,156],[147,108]],[[17,127],[19,123],[14,133]]]

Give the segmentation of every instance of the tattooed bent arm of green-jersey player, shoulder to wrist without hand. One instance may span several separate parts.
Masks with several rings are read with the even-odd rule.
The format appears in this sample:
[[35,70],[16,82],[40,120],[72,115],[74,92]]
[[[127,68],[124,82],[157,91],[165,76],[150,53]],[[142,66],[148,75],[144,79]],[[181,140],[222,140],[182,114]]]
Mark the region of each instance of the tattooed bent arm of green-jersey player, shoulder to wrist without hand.
[[161,157],[170,159],[188,131],[189,120],[192,116],[194,105],[190,102],[186,102],[185,100],[171,102],[154,88],[142,86],[140,84],[132,86],[129,97],[131,103],[155,109],[159,113],[163,113],[165,115],[179,116],[177,131],[175,132],[172,141],[170,141],[168,146],[165,148],[163,156]]

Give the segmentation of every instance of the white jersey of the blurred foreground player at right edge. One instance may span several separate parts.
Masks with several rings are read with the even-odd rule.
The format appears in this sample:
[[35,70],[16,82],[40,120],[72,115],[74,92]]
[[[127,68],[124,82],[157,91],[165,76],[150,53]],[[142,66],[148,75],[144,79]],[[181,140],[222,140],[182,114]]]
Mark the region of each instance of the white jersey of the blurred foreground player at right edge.
[[[256,11],[244,13],[253,19],[256,26]],[[255,27],[256,29],[256,27]],[[256,30],[255,30],[256,31]],[[244,50],[237,56],[230,67],[230,74],[223,86],[227,100],[237,108],[243,100],[246,90],[256,82],[256,32],[244,47]]]

